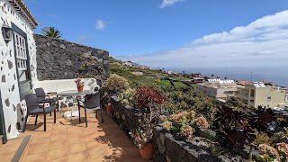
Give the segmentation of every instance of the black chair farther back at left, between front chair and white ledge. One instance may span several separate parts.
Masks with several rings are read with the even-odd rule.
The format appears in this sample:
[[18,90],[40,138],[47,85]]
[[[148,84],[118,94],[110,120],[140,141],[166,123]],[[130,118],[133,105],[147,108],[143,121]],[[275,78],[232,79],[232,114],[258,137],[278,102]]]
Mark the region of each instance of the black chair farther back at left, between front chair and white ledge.
[[37,98],[39,100],[39,103],[40,104],[45,104],[45,103],[56,103],[57,102],[57,110],[59,111],[59,108],[58,108],[58,97],[53,97],[53,98],[50,98],[49,94],[50,95],[57,95],[56,92],[53,92],[53,93],[45,93],[43,88],[35,88],[34,89],[36,95],[37,95]]

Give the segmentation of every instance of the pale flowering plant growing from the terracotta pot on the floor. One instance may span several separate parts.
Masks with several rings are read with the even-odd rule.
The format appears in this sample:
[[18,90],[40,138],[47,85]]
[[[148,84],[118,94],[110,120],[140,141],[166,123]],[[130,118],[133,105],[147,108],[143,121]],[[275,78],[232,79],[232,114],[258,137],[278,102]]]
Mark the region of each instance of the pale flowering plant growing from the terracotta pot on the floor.
[[139,120],[139,126],[130,130],[129,134],[138,148],[143,148],[153,137],[153,126],[155,124],[149,120],[149,114],[144,113],[143,119]]

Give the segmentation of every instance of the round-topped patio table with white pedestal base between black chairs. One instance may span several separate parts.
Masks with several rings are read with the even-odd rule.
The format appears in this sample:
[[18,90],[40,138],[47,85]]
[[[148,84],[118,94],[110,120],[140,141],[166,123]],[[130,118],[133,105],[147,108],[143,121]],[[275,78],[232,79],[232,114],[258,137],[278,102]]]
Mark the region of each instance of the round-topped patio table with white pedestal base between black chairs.
[[83,92],[78,92],[77,90],[67,90],[67,91],[58,92],[58,97],[60,97],[60,96],[62,96],[62,97],[72,97],[73,106],[71,108],[71,111],[64,112],[64,117],[69,117],[70,116],[70,119],[72,120],[73,116],[78,116],[79,105],[78,105],[78,111],[73,111],[74,103],[75,103],[75,100],[76,100],[77,103],[79,104],[79,102],[78,102],[79,101],[79,97],[83,97],[83,96],[85,96],[85,94],[93,94],[93,92],[89,91],[89,90],[84,90]]

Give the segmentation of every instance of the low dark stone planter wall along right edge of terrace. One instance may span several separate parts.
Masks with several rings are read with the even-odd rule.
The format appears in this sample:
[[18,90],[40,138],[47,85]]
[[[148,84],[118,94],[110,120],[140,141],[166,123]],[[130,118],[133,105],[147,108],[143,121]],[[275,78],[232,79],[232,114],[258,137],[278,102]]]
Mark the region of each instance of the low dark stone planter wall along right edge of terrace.
[[[141,113],[129,105],[122,105],[117,96],[111,97],[112,119],[130,138],[129,131],[139,126]],[[153,130],[153,161],[221,161],[220,157],[212,156],[204,148],[195,146],[184,140],[176,140],[175,137],[157,126]]]

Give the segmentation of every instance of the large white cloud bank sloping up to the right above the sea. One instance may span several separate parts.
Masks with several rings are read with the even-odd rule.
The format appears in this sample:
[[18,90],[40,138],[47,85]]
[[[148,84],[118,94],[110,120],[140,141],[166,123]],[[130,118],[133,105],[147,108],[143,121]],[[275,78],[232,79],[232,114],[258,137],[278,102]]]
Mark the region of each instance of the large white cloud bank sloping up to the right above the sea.
[[182,48],[116,57],[150,67],[281,66],[288,60],[288,10],[230,31],[205,35]]

